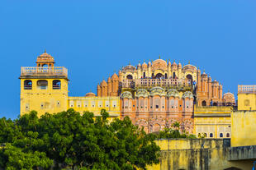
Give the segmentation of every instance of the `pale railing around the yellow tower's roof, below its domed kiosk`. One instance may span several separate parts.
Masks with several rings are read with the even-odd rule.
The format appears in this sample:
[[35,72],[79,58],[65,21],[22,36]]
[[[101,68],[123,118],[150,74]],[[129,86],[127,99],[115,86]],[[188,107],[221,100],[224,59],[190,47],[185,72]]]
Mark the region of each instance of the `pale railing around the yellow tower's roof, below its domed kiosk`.
[[68,69],[65,67],[21,67],[21,76],[68,77]]

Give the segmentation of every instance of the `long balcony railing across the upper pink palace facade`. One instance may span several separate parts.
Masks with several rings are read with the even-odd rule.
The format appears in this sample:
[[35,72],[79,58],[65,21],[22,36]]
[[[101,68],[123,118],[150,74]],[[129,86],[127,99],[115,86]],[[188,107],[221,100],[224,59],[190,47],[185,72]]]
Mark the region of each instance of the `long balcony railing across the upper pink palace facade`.
[[187,87],[192,88],[192,81],[187,79],[135,79],[122,80],[122,88],[150,88],[150,87]]

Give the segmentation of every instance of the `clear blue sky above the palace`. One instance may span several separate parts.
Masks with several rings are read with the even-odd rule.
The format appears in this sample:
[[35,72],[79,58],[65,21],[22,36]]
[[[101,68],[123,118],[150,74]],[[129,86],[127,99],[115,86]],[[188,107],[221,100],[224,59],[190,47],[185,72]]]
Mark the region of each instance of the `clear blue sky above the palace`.
[[47,50],[69,69],[69,95],[96,92],[144,59],[190,61],[236,94],[256,84],[255,0],[0,2],[0,117],[16,118],[20,67]]

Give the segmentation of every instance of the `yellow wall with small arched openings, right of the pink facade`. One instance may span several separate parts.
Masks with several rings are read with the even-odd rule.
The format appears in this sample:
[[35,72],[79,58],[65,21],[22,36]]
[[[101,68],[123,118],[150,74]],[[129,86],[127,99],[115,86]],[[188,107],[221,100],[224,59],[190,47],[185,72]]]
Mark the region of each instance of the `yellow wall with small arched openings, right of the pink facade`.
[[194,135],[198,137],[199,134],[205,134],[206,138],[230,138],[231,133],[231,119],[230,114],[232,107],[197,107],[194,106]]

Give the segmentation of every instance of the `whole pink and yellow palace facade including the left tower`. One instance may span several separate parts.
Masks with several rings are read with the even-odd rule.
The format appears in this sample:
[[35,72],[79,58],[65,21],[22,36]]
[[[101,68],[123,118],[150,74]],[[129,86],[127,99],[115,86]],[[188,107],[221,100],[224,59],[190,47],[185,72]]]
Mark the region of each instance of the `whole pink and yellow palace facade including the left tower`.
[[[68,95],[68,70],[55,67],[54,57],[43,53],[36,67],[21,67],[21,115],[31,110],[57,113],[68,108],[111,117],[130,117],[146,132],[163,130],[179,122],[183,131],[206,137],[230,137],[234,94],[188,63],[182,66],[159,57],[151,62],[122,67],[81,97]],[[222,134],[222,135],[221,135]],[[229,134],[229,135],[227,135]]]

